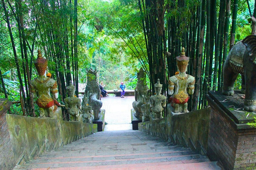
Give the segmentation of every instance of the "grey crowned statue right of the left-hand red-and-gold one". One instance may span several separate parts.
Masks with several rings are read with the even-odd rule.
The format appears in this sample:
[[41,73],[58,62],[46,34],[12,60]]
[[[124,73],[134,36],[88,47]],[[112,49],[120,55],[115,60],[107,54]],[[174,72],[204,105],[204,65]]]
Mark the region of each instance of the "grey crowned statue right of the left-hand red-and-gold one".
[[69,81],[68,98],[64,99],[65,108],[68,110],[71,121],[78,121],[79,110],[81,110],[81,99],[75,97],[75,86]]

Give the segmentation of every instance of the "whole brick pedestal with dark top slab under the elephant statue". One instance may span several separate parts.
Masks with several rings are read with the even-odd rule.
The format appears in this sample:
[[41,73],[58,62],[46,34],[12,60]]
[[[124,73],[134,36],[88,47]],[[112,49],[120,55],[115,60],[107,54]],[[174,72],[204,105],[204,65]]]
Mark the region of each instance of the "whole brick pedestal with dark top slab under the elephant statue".
[[208,92],[211,106],[207,156],[221,161],[225,169],[256,169],[256,115],[243,111],[243,101],[235,92],[227,97],[221,92]]

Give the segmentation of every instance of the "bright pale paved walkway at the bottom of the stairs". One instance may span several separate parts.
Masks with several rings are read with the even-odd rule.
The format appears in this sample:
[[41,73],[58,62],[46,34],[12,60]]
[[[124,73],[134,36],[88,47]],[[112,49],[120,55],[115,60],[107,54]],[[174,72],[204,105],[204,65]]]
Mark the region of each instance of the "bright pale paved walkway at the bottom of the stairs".
[[132,102],[134,96],[109,96],[101,98],[103,103],[101,109],[105,109],[105,131],[108,130],[128,130],[131,125]]

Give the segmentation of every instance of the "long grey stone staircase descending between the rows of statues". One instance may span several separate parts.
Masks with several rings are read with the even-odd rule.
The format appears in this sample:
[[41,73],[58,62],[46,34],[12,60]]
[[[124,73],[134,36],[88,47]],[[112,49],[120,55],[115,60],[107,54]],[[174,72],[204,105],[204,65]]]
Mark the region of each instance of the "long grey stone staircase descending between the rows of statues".
[[218,170],[211,162],[180,145],[138,130],[97,132],[53,150],[14,169],[34,170]]

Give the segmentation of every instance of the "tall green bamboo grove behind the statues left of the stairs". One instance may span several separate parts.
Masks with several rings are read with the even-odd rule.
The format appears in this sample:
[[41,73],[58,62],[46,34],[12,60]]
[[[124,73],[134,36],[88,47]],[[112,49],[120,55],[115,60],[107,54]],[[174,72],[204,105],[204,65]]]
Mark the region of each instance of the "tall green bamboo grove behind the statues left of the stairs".
[[[33,61],[36,59],[35,47],[41,48],[44,57],[51,63],[48,65],[48,71],[57,80],[60,101],[63,102],[67,97],[66,83],[68,84],[71,80],[74,85],[78,86],[77,0],[74,2],[71,0],[26,2],[1,0],[0,9],[4,14],[2,21],[5,21],[8,27],[15,58],[22,112],[24,116],[35,117],[33,98],[28,83],[35,78],[32,75],[36,75],[33,66]],[[4,51],[3,48],[0,49],[1,52]],[[1,70],[0,75],[7,98]],[[78,90],[76,90],[76,95],[78,95]],[[63,116],[66,119],[66,114]]]

